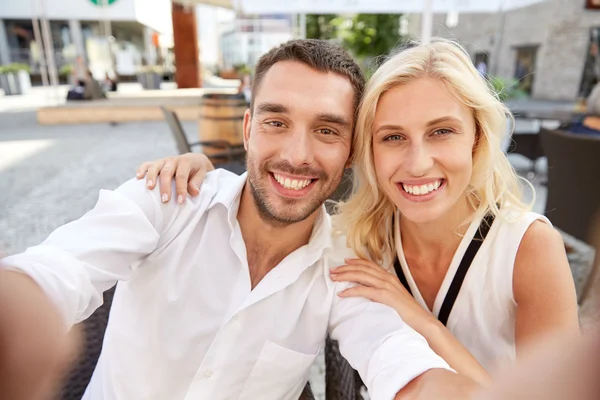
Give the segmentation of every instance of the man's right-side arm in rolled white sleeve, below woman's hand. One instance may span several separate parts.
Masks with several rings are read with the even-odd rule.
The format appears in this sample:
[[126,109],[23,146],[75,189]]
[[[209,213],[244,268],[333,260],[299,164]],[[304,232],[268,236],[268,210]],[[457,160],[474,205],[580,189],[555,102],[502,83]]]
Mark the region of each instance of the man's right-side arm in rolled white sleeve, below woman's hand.
[[337,293],[349,284],[338,285],[329,334],[372,399],[463,399],[477,388],[452,371],[394,309],[365,298],[341,299]]

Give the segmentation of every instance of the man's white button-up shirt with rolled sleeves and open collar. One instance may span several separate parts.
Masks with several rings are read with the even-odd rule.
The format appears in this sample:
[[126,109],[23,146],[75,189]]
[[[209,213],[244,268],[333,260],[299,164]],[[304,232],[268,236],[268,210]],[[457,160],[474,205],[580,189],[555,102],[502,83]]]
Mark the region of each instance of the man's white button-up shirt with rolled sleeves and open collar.
[[[391,308],[341,299],[329,269],[350,255],[322,208],[308,245],[251,290],[236,216],[245,175],[217,170],[184,205],[132,180],[41,245],[6,258],[68,324],[119,281],[85,400],[298,399],[329,333],[374,400],[447,364]],[[327,256],[326,256],[327,253]]]

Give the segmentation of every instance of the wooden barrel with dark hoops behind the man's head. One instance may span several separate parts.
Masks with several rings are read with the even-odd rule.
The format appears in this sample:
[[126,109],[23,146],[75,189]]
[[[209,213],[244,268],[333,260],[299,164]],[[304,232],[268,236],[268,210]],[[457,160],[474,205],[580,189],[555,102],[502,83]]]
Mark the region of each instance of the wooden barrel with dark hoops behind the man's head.
[[[227,140],[232,145],[242,144],[246,108],[243,95],[205,95],[200,103],[200,140]],[[204,148],[203,152],[210,154],[219,150]]]

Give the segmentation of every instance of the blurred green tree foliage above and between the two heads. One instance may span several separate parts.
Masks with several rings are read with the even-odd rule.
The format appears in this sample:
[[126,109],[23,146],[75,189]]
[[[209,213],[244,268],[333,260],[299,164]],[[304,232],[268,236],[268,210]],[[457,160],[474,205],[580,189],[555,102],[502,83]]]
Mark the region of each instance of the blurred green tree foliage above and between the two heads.
[[359,59],[388,54],[405,38],[400,35],[401,14],[357,14],[341,33],[344,45]]

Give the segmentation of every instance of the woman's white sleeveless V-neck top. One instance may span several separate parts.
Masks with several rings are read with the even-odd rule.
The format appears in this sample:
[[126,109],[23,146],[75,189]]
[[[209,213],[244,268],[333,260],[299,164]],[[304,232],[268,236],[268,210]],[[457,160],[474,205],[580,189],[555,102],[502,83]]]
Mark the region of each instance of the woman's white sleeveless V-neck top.
[[[518,215],[515,211],[505,210],[502,213],[513,219]],[[551,225],[546,217],[533,212],[524,214],[517,222],[512,223],[500,216],[495,218],[485,241],[471,263],[448,318],[446,327],[490,372],[497,363],[515,359],[517,305],[513,295],[513,269],[521,239],[531,223],[536,220]],[[435,298],[433,310],[430,310],[436,317],[480,222],[480,218],[471,222],[454,254]],[[402,271],[416,301],[429,310],[408,269],[397,219],[394,225],[396,248]]]

